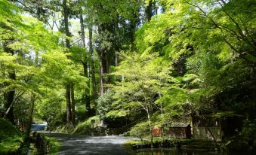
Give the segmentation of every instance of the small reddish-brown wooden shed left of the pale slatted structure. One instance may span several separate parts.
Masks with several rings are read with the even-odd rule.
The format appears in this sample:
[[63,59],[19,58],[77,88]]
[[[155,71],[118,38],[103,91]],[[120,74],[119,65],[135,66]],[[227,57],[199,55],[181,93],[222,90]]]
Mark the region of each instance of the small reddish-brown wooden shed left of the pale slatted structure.
[[190,123],[171,123],[169,125],[169,136],[170,138],[190,138]]

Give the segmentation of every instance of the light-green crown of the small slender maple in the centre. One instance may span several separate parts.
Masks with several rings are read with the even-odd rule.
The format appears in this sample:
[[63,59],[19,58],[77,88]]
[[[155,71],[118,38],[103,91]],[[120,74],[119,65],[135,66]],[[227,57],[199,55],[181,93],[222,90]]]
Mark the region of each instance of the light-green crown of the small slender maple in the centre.
[[156,96],[168,89],[168,82],[176,82],[168,75],[170,69],[168,63],[156,54],[125,56],[113,73],[122,79],[111,86],[116,99],[113,104],[124,110],[142,109],[151,115]]

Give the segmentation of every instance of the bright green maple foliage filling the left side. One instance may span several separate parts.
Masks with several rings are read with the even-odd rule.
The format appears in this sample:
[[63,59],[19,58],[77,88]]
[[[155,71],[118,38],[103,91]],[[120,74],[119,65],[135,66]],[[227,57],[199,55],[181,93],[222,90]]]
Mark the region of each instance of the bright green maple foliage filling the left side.
[[[14,91],[11,106],[15,117],[27,120],[25,116],[29,117],[27,113],[33,94],[37,116],[59,123],[63,113],[60,110],[63,87],[67,83],[74,84],[79,91],[87,87],[88,79],[83,76],[82,65],[70,60],[71,54],[61,47],[60,39],[65,38],[64,35],[49,32],[42,22],[23,13],[11,2],[1,0],[0,8],[1,113],[7,111],[2,96]],[[79,48],[72,49],[73,59],[78,58],[76,55],[80,51]],[[15,74],[15,78],[9,78],[10,73]]]

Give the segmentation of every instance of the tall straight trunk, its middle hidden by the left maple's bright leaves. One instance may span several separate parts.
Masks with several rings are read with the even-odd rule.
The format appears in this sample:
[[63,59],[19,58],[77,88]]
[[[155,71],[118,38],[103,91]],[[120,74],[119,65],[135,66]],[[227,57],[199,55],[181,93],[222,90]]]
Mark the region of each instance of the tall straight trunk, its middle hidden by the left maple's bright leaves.
[[[70,37],[69,32],[69,8],[67,8],[66,0],[63,0],[63,15],[66,36]],[[66,47],[70,49],[70,41],[66,38]],[[66,125],[71,126],[71,102],[70,102],[70,84],[66,84]]]

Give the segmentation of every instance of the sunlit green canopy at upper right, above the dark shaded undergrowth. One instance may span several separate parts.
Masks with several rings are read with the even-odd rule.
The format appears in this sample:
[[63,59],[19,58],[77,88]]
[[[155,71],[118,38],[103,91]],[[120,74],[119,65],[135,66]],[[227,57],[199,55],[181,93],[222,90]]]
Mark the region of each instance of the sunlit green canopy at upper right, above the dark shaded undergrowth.
[[252,1],[159,2],[165,4],[167,11],[137,31],[137,47],[141,52],[165,53],[173,64],[186,56],[188,72],[180,87],[189,90],[184,90],[187,91],[184,96],[190,99],[180,96],[177,100],[202,102],[207,98],[208,101],[224,90],[236,90],[248,83],[254,70],[248,63],[254,64],[255,59],[252,54],[255,8],[238,13],[234,10],[254,6]]

